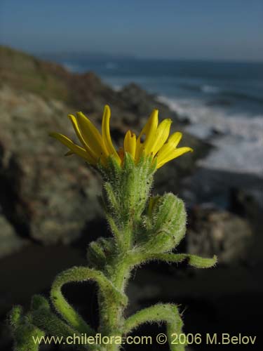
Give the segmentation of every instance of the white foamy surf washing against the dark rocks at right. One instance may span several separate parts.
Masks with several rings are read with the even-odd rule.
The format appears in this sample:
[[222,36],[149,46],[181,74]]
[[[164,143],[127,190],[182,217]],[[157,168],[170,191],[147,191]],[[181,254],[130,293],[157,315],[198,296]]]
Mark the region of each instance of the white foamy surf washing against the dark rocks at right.
[[215,145],[215,150],[199,161],[201,166],[262,176],[263,115],[228,114],[194,99],[161,96],[159,100],[180,117],[189,118],[189,133]]

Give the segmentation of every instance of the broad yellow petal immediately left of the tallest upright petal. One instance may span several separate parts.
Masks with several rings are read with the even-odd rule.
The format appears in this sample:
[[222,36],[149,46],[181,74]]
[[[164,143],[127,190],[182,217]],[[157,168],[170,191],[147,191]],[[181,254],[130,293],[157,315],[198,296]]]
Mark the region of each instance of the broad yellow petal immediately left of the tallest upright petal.
[[104,146],[102,135],[94,126],[93,123],[82,113],[76,113],[76,120],[78,121],[79,130],[85,143],[93,150],[97,159],[105,159],[109,156],[106,147]]

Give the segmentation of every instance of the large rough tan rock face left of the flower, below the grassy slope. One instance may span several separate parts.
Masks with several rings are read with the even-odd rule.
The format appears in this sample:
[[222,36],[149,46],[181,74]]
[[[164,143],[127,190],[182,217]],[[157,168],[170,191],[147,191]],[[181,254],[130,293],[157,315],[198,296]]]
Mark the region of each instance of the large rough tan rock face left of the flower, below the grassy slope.
[[100,213],[97,176],[48,136],[72,136],[69,107],[32,93],[0,91],[1,205],[18,234],[43,244],[70,242]]

